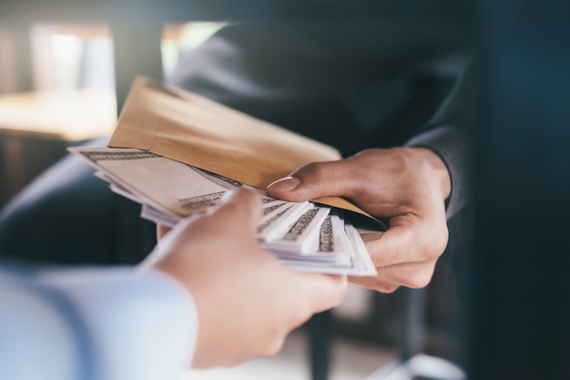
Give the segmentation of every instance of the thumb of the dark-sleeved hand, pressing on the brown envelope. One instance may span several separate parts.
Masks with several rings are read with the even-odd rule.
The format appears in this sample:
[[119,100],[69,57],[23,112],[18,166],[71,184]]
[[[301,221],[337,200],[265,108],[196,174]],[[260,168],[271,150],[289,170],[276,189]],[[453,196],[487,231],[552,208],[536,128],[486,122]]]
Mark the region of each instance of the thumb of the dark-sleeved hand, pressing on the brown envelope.
[[348,160],[311,162],[293,171],[289,177],[276,180],[267,187],[271,197],[302,201],[321,197],[351,197],[353,192],[351,164]]

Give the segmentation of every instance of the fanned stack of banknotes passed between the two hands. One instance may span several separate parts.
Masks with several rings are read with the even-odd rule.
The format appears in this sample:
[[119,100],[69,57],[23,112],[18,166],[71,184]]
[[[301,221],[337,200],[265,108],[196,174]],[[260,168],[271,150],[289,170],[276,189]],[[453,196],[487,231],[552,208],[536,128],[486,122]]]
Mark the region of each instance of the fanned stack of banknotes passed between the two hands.
[[[174,226],[216,205],[229,190],[246,186],[139,149],[75,147],[111,190],[142,205],[141,217]],[[247,186],[246,186],[247,187]],[[310,201],[289,202],[262,190],[261,246],[290,267],[310,272],[366,276],[376,273],[350,215]]]

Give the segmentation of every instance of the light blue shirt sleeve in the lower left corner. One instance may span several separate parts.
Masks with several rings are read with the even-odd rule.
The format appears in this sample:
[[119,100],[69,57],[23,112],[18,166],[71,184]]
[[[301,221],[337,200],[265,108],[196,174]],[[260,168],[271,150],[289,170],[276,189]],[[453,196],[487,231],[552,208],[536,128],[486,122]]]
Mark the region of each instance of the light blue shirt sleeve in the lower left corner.
[[161,272],[0,270],[0,378],[176,379],[191,362],[190,294]]

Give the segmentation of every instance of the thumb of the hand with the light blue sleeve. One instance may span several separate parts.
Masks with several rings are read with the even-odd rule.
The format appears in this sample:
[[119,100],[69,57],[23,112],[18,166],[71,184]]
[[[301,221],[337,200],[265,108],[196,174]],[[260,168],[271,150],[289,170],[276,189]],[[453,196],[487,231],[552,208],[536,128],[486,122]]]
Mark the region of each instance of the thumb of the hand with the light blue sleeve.
[[255,231],[261,217],[261,200],[252,190],[231,190],[211,215],[219,221],[238,221],[248,230]]

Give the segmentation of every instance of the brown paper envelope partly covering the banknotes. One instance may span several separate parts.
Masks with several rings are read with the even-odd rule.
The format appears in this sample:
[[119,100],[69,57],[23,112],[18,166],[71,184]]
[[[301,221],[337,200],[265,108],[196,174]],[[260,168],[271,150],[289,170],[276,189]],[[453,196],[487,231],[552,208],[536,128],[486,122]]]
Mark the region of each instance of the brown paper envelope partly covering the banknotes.
[[[107,146],[148,150],[260,189],[305,163],[341,159],[321,142],[148,77],[135,80]],[[380,223],[340,197],[314,201]]]

